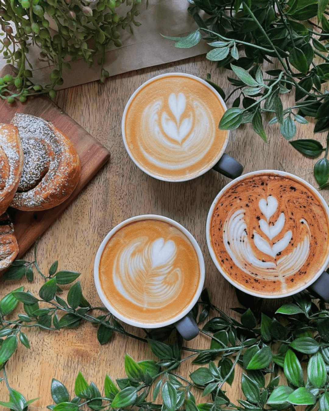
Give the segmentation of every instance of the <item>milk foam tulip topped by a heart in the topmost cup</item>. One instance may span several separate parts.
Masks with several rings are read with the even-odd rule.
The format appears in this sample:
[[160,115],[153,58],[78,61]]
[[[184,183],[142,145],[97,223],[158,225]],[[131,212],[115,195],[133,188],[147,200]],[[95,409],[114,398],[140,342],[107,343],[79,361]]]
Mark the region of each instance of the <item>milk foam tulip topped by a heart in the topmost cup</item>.
[[213,144],[216,125],[197,96],[171,93],[146,106],[141,114],[141,151],[149,162],[175,170],[201,160]]

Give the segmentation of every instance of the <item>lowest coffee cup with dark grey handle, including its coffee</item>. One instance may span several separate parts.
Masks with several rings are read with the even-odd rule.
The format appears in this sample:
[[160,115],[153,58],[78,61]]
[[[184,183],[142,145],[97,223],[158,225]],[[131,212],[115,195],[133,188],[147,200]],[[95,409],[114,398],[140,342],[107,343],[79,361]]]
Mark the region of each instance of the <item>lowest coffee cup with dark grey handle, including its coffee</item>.
[[190,311],[204,284],[201,249],[181,224],[139,215],[115,226],[94,263],[97,292],[119,320],[141,328],[174,324],[185,339],[199,329]]

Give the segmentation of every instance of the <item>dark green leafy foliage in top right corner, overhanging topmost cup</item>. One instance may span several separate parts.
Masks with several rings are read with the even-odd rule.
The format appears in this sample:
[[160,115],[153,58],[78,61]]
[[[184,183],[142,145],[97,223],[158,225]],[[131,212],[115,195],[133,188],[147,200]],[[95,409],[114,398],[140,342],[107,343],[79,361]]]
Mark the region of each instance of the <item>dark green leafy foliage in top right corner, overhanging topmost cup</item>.
[[[211,47],[206,58],[233,72],[234,76],[228,76],[232,90],[227,96],[208,79],[226,103],[234,96],[220,129],[232,130],[251,123],[267,141],[264,122],[278,123],[283,137],[304,155],[318,157],[325,152],[314,166],[314,175],[321,188],[328,188],[328,141],[323,148],[315,139],[292,140],[296,137],[296,122],[307,124],[306,117],[314,119],[314,133],[329,130],[328,0],[189,3],[198,29],[185,37],[167,38],[174,40],[178,48],[193,47],[203,39]],[[264,72],[264,62],[277,68]],[[294,93],[295,104],[284,107],[282,96],[288,93]]]

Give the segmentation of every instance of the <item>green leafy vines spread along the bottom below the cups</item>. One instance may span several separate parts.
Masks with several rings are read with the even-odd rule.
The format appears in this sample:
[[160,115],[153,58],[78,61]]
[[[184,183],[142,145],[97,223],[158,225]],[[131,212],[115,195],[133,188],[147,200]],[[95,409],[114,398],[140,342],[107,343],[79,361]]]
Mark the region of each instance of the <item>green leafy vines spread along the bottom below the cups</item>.
[[[110,342],[118,332],[148,343],[156,360],[137,362],[127,353],[126,375],[113,381],[106,374],[102,388],[87,382],[88,377],[79,372],[72,394],[61,381],[53,379],[49,389],[54,403],[48,409],[293,411],[295,406],[303,406],[305,411],[329,411],[329,309],[307,292],[296,294],[276,312],[261,312],[262,300],[243,295],[240,301],[244,307],[233,308],[241,314],[238,321],[213,305],[205,289],[192,314],[201,337],[209,339],[209,348],[193,349],[173,334],[174,327],[145,330],[144,338],[126,332],[107,309],[92,307],[86,301],[76,281],[79,273],[58,270],[57,261],[47,274],[42,273],[36,260],[15,261],[5,279],[18,280],[26,275],[33,281],[33,267],[44,279],[38,295],[21,286],[0,301],[0,373],[9,395],[0,402],[2,406],[26,411],[35,401],[11,387],[6,373],[18,344],[33,349],[25,328],[56,332],[88,321],[97,328],[100,344]],[[70,286],[66,300],[60,296],[62,284]],[[24,312],[13,319],[20,302]],[[185,361],[199,366],[188,378],[179,374],[179,366]],[[244,398],[233,403],[226,395],[225,384],[236,383],[237,367],[242,369],[239,383]],[[202,395],[199,403],[198,392]]]

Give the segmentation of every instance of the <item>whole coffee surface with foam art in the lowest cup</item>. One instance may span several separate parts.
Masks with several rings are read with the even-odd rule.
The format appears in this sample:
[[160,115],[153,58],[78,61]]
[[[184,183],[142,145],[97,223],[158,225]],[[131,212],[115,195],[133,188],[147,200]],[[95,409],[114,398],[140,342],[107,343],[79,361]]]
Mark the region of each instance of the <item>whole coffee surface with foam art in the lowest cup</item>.
[[109,239],[99,264],[100,285],[125,318],[168,321],[189,305],[200,280],[190,240],[167,222],[131,222]]

